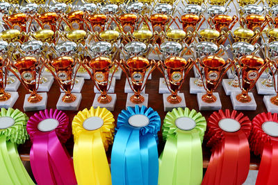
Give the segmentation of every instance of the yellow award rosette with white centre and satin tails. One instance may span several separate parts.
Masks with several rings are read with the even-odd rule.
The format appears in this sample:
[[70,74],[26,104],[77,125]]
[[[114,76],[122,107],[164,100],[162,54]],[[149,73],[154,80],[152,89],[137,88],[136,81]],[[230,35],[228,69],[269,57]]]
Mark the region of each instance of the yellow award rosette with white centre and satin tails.
[[106,151],[113,143],[115,119],[106,108],[83,109],[72,121],[74,171],[78,184],[112,184]]

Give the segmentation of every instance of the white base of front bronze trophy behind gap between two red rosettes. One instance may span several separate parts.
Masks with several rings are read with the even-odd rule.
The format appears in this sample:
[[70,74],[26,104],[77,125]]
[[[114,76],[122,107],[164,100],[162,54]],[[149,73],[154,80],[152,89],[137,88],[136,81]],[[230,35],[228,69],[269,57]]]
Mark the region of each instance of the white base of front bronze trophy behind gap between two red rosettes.
[[241,103],[236,99],[236,96],[240,94],[240,92],[231,92],[231,103],[233,104],[233,108],[235,110],[256,110],[256,101],[252,93],[248,93],[251,97],[250,103]]

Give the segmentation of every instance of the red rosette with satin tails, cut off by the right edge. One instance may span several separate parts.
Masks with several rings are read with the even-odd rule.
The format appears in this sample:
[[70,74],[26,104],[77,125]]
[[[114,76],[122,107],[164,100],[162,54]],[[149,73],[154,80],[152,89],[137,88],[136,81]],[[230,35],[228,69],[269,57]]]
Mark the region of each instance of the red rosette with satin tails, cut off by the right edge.
[[261,113],[252,120],[252,132],[250,134],[250,148],[255,155],[261,155],[261,164],[256,179],[256,185],[277,184],[278,168],[278,137],[266,134],[262,125],[273,121],[278,124],[277,113]]

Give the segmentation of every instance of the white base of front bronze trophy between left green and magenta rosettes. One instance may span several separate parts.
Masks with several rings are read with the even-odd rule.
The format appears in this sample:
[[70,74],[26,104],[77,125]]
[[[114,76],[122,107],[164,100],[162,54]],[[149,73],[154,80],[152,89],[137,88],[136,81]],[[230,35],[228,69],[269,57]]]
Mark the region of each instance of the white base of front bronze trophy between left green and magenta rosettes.
[[23,109],[27,111],[44,110],[47,108],[47,93],[38,93],[42,96],[42,100],[38,103],[29,103],[28,98],[30,94],[26,94],[24,98]]

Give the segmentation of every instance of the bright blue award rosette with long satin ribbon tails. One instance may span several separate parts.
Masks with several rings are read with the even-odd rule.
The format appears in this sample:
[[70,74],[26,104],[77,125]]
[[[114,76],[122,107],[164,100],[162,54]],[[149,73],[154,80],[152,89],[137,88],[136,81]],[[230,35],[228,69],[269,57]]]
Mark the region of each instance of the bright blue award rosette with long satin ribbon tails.
[[111,154],[113,185],[158,184],[157,132],[161,118],[152,108],[127,107],[117,116]]

